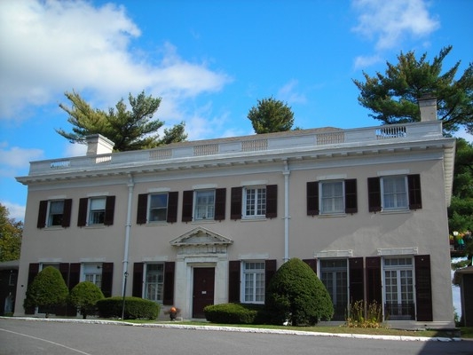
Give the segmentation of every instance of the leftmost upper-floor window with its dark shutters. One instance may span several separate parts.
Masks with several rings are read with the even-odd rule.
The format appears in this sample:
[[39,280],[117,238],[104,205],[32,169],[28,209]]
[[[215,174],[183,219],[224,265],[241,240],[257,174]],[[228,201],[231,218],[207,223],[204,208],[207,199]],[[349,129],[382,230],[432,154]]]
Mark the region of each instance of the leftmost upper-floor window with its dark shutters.
[[37,227],[68,227],[71,222],[72,200],[40,201]]

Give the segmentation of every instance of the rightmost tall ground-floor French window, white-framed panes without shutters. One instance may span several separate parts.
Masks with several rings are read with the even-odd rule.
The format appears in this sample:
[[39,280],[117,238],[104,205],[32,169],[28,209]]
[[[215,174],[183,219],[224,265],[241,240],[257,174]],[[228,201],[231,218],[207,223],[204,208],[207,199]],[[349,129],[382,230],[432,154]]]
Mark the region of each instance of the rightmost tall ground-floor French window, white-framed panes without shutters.
[[412,257],[383,260],[386,319],[414,319],[414,266]]

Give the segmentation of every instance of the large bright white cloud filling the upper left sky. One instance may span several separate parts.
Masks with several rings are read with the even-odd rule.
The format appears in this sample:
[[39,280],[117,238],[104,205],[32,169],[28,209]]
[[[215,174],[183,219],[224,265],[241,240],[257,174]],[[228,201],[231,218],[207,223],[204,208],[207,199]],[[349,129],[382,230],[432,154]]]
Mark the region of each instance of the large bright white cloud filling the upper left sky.
[[130,50],[140,29],[122,6],[82,0],[0,2],[0,118],[51,103],[64,91],[87,91],[114,106],[128,93],[193,98],[231,81],[205,63],[180,59],[170,43],[146,58]]

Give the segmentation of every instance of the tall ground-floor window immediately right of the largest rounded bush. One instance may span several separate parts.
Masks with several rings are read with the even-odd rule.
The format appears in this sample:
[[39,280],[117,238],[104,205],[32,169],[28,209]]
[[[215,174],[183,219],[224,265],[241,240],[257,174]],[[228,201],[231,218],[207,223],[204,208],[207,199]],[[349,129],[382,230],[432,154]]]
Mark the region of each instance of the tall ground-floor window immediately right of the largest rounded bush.
[[320,280],[327,288],[334,304],[333,320],[343,320],[348,306],[347,260],[320,260]]

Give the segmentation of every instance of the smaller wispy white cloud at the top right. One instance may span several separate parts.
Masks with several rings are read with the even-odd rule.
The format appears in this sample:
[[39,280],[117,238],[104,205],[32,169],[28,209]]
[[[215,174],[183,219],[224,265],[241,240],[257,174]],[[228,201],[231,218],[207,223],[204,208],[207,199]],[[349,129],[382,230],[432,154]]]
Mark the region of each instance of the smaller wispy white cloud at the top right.
[[374,39],[376,50],[395,48],[404,36],[428,36],[439,27],[423,0],[353,0],[359,14],[355,32]]

